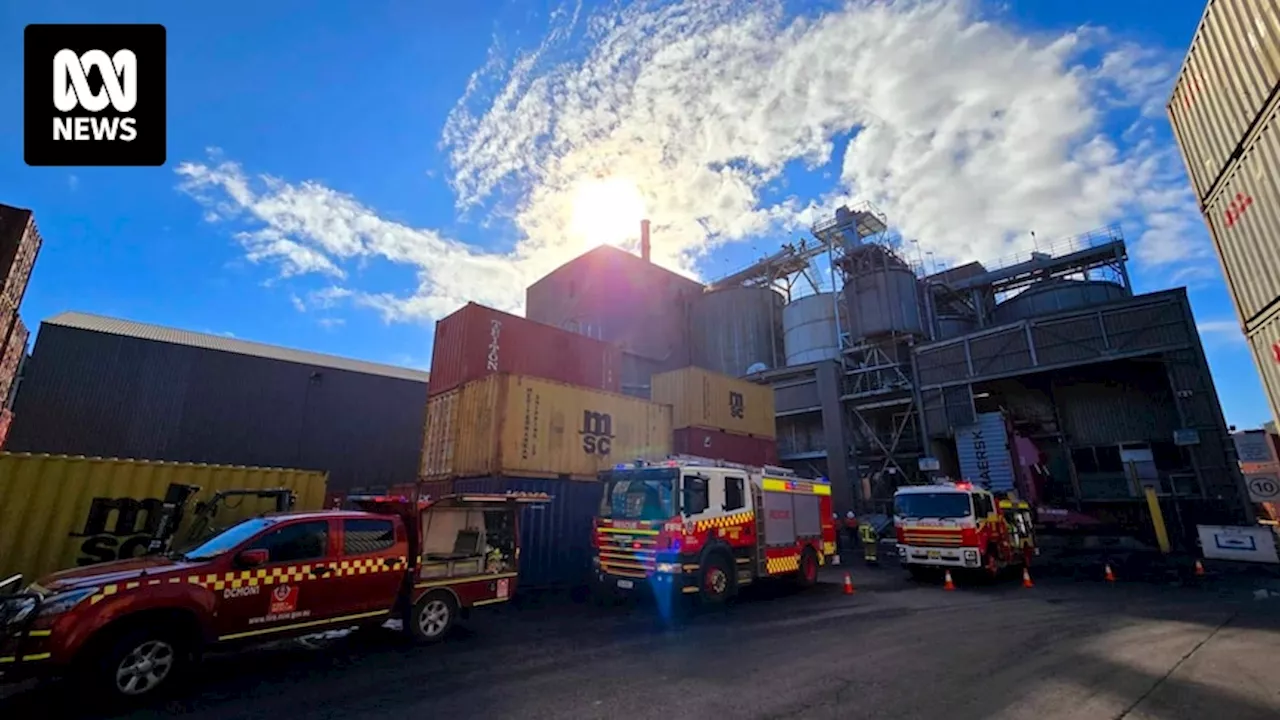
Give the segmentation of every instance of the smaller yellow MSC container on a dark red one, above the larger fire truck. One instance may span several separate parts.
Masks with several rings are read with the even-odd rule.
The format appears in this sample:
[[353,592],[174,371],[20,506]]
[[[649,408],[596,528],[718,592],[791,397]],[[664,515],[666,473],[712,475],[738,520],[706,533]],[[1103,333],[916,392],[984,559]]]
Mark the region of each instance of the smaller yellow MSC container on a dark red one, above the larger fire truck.
[[690,366],[654,375],[653,400],[672,406],[676,452],[749,465],[778,461],[768,386]]

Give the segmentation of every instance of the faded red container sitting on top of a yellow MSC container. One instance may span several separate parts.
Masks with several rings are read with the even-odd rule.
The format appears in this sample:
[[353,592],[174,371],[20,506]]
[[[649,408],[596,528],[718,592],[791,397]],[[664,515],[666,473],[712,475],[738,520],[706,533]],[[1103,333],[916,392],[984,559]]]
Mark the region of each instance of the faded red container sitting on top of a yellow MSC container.
[[475,302],[435,323],[429,397],[494,373],[620,392],[622,351]]

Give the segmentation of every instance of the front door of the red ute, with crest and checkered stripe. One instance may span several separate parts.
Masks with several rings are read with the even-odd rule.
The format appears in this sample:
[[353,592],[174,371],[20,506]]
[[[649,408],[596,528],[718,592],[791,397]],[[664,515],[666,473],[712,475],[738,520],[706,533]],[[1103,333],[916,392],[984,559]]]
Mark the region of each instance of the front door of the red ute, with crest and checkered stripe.
[[241,547],[265,550],[268,561],[246,571],[248,578],[239,587],[219,592],[219,639],[311,632],[337,618],[342,580],[333,569],[335,542],[330,520],[311,519],[274,525]]

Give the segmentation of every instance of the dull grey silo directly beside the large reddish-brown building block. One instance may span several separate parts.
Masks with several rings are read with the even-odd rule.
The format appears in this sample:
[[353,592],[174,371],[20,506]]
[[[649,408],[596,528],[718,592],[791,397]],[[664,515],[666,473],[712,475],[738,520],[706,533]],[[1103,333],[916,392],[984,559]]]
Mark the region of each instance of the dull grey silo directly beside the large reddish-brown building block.
[[741,377],[756,363],[781,360],[783,297],[764,287],[708,292],[690,306],[694,365]]

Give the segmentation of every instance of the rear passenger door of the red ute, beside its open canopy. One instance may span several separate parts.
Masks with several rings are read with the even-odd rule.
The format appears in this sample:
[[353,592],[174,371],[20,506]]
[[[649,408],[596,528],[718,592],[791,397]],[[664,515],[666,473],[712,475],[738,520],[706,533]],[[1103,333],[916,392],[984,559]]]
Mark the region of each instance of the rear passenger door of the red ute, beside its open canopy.
[[344,518],[342,559],[337,573],[343,579],[340,614],[392,610],[404,580],[408,538],[394,518]]

